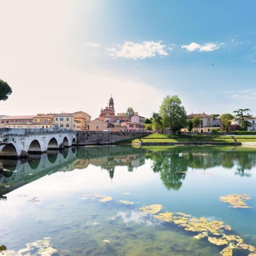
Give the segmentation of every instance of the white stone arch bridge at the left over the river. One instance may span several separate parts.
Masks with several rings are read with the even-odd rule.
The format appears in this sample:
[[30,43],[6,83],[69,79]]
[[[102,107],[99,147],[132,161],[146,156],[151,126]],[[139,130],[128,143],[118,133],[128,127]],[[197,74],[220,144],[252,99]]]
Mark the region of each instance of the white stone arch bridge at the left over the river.
[[75,130],[49,129],[0,129],[0,158],[26,158],[47,150],[59,150],[77,144]]

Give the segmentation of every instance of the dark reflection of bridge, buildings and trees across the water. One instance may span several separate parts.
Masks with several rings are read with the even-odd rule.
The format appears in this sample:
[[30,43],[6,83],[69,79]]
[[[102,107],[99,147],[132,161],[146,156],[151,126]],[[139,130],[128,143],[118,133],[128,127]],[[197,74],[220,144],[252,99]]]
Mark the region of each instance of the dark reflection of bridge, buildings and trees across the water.
[[93,146],[68,148],[62,152],[30,155],[25,160],[1,160],[0,196],[56,172],[86,169],[90,164],[100,166],[114,178],[116,166],[126,166],[133,172],[151,160],[153,172],[159,173],[167,189],[179,190],[188,169],[207,169],[215,166],[234,168],[234,174],[251,176],[256,166],[256,151],[240,147],[178,146],[133,148],[122,146]]

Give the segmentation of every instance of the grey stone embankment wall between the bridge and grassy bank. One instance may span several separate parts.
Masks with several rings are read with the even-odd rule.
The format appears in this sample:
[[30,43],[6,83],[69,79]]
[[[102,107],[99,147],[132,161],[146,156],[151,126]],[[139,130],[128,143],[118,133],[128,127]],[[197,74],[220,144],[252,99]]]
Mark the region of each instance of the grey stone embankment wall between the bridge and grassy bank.
[[78,131],[78,145],[103,145],[112,144],[120,140],[136,139],[146,136],[150,133],[146,132],[93,132]]

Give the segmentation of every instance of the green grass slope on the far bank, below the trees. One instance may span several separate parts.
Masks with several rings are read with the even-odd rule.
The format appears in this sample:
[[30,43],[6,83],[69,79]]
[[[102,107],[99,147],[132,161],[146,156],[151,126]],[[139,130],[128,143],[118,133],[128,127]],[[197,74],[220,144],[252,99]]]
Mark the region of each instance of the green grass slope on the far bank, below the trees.
[[150,134],[140,139],[120,141],[118,144],[175,143],[175,142],[256,142],[256,136],[220,136],[220,135],[170,135]]

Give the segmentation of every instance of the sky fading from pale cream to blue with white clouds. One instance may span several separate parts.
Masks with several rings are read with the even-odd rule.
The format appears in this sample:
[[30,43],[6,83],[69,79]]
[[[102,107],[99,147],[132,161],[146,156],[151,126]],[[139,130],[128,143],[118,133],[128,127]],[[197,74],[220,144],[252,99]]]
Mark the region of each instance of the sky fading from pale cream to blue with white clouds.
[[256,115],[254,0],[0,0],[0,115],[85,111],[113,95],[150,117],[166,95],[187,114]]

